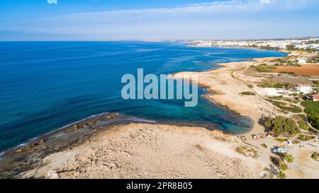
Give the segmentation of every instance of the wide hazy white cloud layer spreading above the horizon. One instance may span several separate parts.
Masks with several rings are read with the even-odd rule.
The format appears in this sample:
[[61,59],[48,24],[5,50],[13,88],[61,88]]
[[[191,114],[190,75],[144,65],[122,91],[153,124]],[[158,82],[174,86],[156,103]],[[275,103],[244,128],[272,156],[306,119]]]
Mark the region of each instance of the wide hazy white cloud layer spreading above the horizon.
[[319,28],[314,25],[318,14],[305,16],[298,10],[315,8],[319,8],[318,0],[213,1],[175,8],[68,14],[28,21],[28,25],[6,23],[2,28],[116,39],[306,36],[318,35]]

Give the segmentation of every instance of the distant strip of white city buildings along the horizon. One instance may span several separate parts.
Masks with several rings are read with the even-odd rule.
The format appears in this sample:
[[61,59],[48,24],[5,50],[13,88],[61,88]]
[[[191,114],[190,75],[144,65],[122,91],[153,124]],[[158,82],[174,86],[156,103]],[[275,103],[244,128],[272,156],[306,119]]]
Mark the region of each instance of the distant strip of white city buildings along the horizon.
[[195,40],[193,47],[279,47],[294,45],[298,49],[319,49],[319,38],[303,40]]

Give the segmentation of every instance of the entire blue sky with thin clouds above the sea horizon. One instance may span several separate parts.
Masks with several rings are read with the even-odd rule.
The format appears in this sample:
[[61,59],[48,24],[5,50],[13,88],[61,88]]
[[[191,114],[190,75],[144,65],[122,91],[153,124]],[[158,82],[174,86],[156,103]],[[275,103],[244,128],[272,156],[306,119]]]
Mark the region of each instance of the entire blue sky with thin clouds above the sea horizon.
[[0,40],[319,36],[318,0],[1,0]]

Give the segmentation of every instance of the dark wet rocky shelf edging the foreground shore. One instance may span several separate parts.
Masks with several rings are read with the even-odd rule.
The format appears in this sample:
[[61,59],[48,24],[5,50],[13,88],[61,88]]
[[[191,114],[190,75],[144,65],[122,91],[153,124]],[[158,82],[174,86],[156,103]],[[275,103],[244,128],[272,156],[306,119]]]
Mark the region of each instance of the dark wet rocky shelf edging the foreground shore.
[[[167,127],[173,127],[174,129],[193,129],[198,127],[203,130],[216,131],[220,134],[228,135],[224,131],[216,129],[216,125],[211,122],[153,121],[106,112],[67,124],[47,134],[30,139],[14,148],[2,151],[0,157],[0,179],[21,178],[23,173],[41,167],[43,158],[47,156],[72,150],[77,146],[90,143],[92,137],[99,136],[105,131],[126,127],[130,124],[137,124],[138,126],[140,124],[149,124],[154,127],[167,125]],[[77,128],[78,126],[80,127]]]

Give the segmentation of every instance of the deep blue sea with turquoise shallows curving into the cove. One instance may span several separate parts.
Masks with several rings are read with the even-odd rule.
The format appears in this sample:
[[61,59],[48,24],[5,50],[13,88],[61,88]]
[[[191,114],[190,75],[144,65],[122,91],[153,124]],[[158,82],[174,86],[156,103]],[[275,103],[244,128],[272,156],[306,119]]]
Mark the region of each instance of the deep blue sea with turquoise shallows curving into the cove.
[[[101,112],[155,120],[213,122],[245,132],[250,119],[200,99],[123,100],[121,76],[204,71],[203,63],[235,62],[283,53],[196,48],[178,42],[0,42],[0,151]],[[202,92],[199,93],[201,95]]]

